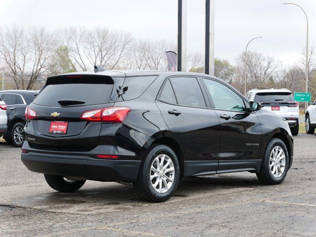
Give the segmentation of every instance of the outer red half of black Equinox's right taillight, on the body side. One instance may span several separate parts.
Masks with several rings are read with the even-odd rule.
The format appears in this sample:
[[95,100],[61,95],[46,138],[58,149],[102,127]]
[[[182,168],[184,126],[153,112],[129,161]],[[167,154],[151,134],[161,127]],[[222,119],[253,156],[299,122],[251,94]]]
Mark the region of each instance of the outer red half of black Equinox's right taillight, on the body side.
[[110,107],[102,110],[102,121],[123,122],[131,111],[128,107]]

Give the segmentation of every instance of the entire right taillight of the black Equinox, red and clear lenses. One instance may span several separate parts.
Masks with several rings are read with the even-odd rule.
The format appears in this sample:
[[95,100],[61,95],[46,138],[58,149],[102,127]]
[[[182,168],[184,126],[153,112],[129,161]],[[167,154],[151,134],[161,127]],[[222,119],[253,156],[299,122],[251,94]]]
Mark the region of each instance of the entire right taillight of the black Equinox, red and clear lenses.
[[109,107],[104,109],[84,111],[80,119],[95,122],[118,122],[121,123],[131,111],[128,107]]

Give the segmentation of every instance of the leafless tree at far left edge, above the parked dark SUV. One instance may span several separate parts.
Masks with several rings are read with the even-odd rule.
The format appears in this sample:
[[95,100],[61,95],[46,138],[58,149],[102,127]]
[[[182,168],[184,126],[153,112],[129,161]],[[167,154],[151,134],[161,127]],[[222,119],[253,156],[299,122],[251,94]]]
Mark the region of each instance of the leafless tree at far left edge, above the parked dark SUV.
[[0,31],[0,55],[16,89],[32,89],[47,71],[51,49],[52,36],[44,28],[26,33],[22,27],[12,25]]

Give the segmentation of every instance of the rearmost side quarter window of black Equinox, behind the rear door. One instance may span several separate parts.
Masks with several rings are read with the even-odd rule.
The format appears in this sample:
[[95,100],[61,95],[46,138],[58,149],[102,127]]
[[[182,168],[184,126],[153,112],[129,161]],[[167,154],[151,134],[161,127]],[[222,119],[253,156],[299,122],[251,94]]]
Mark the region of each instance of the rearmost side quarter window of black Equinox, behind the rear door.
[[133,100],[141,96],[157,76],[126,77],[117,101]]

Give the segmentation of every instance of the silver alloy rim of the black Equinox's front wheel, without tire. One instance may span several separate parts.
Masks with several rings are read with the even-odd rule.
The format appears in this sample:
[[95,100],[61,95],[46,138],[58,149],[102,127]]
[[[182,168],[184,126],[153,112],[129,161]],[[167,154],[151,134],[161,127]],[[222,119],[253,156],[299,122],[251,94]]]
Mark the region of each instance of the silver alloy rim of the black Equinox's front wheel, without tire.
[[283,149],[279,146],[274,147],[270,154],[270,171],[274,177],[278,178],[283,174],[285,161]]

